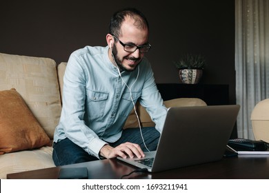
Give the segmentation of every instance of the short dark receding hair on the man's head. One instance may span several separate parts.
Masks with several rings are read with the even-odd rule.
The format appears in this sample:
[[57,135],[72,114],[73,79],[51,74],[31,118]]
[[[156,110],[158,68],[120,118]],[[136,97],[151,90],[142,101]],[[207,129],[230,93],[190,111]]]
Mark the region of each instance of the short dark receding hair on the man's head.
[[121,34],[121,24],[123,21],[125,21],[126,16],[130,16],[135,19],[137,28],[148,28],[148,30],[150,30],[148,20],[141,11],[137,10],[136,8],[124,8],[113,14],[110,19],[108,32],[116,37],[119,37]]

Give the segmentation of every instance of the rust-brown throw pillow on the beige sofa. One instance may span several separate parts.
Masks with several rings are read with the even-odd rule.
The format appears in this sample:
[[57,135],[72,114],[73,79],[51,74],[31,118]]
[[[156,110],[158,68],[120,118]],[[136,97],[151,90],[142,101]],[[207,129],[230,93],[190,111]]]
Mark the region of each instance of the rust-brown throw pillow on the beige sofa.
[[50,138],[16,90],[0,91],[0,103],[0,154],[50,143]]

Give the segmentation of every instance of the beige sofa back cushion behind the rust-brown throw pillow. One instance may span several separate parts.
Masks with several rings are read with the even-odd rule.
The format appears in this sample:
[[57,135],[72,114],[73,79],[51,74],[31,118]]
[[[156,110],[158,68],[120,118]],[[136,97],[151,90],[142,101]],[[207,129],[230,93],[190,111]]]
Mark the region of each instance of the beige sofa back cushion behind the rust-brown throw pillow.
[[56,63],[42,57],[0,53],[0,90],[15,88],[53,139],[61,114]]

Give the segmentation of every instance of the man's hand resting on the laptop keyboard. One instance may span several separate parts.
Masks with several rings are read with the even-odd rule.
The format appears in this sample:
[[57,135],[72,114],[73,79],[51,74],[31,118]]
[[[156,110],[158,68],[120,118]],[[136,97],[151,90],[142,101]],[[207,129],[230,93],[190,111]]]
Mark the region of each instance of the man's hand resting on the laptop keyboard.
[[122,143],[118,145],[116,148],[112,148],[110,145],[103,145],[103,148],[100,150],[100,155],[106,157],[106,159],[113,159],[117,156],[121,156],[122,158],[134,158],[137,156],[141,158],[145,156],[140,146],[136,143]]

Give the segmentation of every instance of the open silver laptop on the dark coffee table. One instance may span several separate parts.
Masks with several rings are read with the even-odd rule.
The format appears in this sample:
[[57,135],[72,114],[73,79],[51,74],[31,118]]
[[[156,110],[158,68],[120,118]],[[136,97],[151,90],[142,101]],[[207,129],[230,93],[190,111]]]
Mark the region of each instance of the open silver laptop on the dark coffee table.
[[226,151],[239,109],[239,105],[168,108],[157,150],[145,152],[142,159],[117,159],[148,172],[219,161]]

